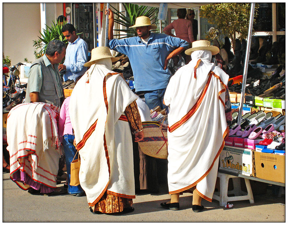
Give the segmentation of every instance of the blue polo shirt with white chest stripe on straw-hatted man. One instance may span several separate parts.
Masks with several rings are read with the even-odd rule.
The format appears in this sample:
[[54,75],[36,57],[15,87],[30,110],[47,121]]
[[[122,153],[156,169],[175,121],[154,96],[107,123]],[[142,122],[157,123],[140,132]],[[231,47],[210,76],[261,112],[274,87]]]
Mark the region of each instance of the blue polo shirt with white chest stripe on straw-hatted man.
[[173,50],[189,43],[178,37],[152,33],[148,44],[141,37],[112,39],[109,48],[129,57],[135,80],[135,91],[165,89],[171,77],[168,67],[164,70],[165,59]]

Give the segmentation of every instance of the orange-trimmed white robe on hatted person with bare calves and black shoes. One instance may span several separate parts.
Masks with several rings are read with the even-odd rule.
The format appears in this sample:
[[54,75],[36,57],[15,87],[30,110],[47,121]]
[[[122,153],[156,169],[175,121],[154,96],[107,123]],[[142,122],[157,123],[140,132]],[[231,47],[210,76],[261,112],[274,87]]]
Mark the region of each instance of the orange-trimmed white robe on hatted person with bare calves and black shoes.
[[168,188],[174,194],[197,184],[199,195],[212,201],[227,132],[224,106],[229,76],[210,63],[211,51],[194,51],[191,57],[172,76],[164,95],[165,105],[170,105]]

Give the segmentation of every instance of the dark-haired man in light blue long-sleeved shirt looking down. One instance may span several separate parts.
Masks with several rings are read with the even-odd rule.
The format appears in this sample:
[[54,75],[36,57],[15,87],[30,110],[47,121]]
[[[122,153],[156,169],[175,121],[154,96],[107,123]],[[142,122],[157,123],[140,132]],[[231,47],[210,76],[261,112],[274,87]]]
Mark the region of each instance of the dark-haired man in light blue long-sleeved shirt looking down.
[[70,79],[76,82],[86,72],[88,59],[88,45],[76,34],[76,29],[72,24],[65,24],[62,27],[62,33],[69,41],[65,61],[59,65],[59,71],[66,70],[63,79],[64,81]]

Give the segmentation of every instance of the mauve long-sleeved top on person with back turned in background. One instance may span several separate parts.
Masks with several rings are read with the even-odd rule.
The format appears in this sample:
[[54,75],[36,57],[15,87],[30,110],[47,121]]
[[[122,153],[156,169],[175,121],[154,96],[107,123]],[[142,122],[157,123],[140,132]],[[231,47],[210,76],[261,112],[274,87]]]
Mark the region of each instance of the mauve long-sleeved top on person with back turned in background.
[[[171,30],[174,28],[176,36],[171,33]],[[193,36],[193,25],[192,22],[188,19],[176,19],[171,24],[166,26],[163,29],[163,32],[172,36],[179,37],[189,43],[194,41]]]

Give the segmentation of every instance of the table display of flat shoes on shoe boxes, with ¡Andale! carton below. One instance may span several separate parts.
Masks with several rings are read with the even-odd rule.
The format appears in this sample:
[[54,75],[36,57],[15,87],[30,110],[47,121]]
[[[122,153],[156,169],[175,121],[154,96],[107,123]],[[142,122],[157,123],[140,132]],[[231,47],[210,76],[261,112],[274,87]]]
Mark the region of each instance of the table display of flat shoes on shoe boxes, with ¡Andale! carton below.
[[220,153],[220,169],[285,183],[285,118],[254,111],[242,116],[234,110],[229,137]]

